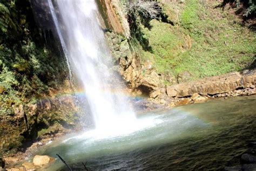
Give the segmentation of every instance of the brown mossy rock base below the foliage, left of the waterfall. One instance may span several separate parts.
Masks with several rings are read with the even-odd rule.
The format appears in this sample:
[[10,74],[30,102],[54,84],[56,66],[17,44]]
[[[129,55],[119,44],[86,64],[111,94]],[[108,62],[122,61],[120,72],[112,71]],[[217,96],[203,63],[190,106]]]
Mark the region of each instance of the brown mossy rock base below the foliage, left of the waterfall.
[[73,128],[78,121],[74,102],[72,95],[52,95],[35,104],[12,105],[12,114],[1,118],[0,154],[10,149],[15,152],[23,142],[31,141],[31,138],[44,138]]

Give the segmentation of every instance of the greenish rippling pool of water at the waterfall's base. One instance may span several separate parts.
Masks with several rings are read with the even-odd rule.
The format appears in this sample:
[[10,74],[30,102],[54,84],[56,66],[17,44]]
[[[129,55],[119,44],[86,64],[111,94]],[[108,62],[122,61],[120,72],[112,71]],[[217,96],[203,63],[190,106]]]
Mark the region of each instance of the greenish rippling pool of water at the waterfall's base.
[[[256,141],[256,96],[150,112],[125,134],[69,135],[37,154],[62,156],[75,169],[218,170],[235,165]],[[131,124],[131,127],[138,125]],[[117,128],[118,129],[118,128]],[[43,170],[68,170],[59,159]]]

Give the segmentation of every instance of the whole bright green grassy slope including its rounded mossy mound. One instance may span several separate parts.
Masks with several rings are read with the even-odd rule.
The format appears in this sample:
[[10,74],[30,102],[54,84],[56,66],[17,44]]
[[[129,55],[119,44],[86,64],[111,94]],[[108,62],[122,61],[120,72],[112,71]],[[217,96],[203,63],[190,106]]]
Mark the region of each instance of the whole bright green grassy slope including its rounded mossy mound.
[[[201,4],[185,1],[178,25],[151,20],[143,28],[152,52],[143,52],[159,73],[189,71],[192,79],[244,69],[256,54],[256,35],[241,26],[228,11],[214,9],[217,2]],[[184,48],[184,35],[190,35],[192,48]]]

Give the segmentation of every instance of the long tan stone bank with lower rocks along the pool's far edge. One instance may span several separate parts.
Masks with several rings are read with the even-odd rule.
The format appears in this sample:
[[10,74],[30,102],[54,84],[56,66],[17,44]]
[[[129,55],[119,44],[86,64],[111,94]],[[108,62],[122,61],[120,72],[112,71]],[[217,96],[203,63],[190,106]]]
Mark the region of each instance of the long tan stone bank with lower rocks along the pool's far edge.
[[197,81],[166,86],[154,90],[150,99],[168,107],[204,102],[213,98],[227,98],[238,95],[256,94],[256,70],[240,74],[232,72]]

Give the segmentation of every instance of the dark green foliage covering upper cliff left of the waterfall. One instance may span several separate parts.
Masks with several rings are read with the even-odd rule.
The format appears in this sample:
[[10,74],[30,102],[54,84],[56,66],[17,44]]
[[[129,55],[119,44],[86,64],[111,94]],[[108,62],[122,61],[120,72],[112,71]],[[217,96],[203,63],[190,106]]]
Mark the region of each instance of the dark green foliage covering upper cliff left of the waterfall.
[[[66,76],[65,59],[44,43],[29,1],[0,1],[0,115],[12,105],[47,94]],[[10,105],[9,105],[10,104]],[[12,112],[11,112],[12,111]]]

